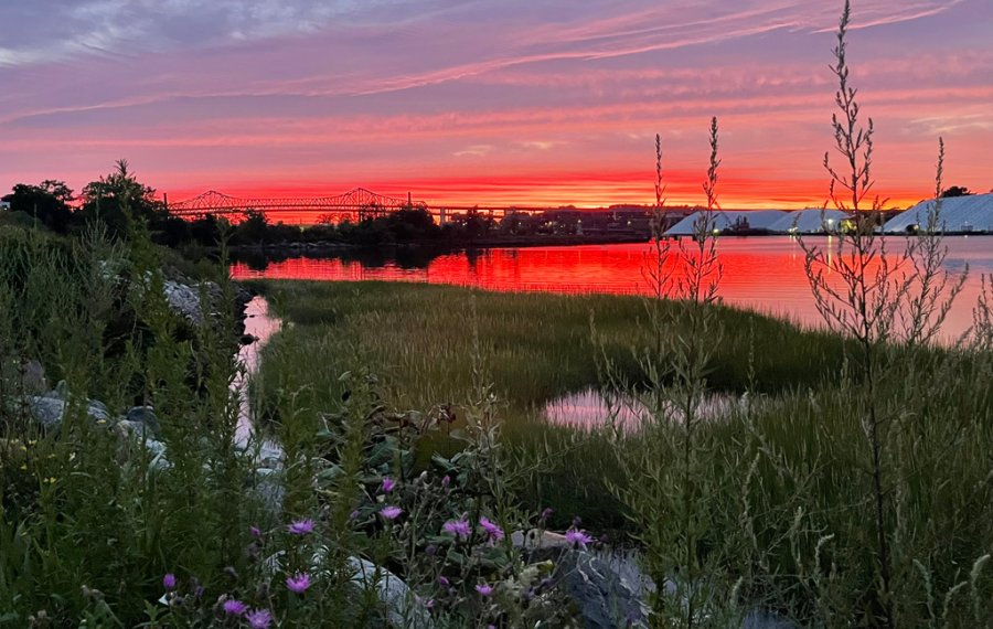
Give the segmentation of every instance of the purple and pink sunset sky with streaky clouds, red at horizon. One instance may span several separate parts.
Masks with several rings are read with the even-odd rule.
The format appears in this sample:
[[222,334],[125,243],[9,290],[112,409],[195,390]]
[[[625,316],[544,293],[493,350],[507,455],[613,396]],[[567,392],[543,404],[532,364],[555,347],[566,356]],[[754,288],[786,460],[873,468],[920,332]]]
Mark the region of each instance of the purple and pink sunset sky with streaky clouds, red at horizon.
[[[0,191],[820,205],[841,0],[0,0]],[[876,191],[993,189],[993,1],[855,0]]]

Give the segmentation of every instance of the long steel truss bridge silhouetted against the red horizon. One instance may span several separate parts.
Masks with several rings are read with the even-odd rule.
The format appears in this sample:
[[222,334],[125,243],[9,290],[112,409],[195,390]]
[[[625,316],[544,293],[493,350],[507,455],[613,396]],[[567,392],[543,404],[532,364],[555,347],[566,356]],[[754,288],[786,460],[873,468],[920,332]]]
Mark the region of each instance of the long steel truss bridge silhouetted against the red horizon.
[[465,214],[471,210],[494,217],[502,217],[510,212],[525,212],[530,214],[548,210],[548,207],[496,207],[450,204],[428,206],[426,203],[412,201],[409,194],[406,199],[386,196],[364,188],[355,188],[337,196],[286,196],[273,199],[228,196],[211,190],[200,196],[180,201],[179,203],[168,203],[167,205],[172,214],[191,218],[211,214],[241,215],[247,212],[263,212],[265,214],[312,212],[314,220],[322,222],[361,221],[362,218],[389,214],[408,206],[425,207],[442,223],[447,217]]

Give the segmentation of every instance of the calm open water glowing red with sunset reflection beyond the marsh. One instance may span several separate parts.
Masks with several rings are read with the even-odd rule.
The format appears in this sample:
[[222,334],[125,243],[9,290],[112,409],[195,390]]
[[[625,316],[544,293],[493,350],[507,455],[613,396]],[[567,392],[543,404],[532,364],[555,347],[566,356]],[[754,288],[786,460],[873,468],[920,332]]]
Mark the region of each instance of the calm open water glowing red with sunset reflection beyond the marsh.
[[[837,255],[836,238],[809,238]],[[887,239],[893,252],[903,249],[898,237]],[[687,243],[688,244],[688,243]],[[980,294],[981,274],[993,273],[993,237],[946,238],[946,267],[961,271],[969,266],[965,288],[959,296],[943,332],[957,335],[972,321]],[[803,269],[803,250],[796,239],[782,237],[722,237],[717,245],[724,267],[719,296],[725,302],[804,324],[821,323]],[[396,257],[296,257],[281,262],[237,262],[236,279],[402,280],[473,286],[489,290],[608,292],[643,295],[648,243],[528,247],[459,252],[438,256],[401,253]]]

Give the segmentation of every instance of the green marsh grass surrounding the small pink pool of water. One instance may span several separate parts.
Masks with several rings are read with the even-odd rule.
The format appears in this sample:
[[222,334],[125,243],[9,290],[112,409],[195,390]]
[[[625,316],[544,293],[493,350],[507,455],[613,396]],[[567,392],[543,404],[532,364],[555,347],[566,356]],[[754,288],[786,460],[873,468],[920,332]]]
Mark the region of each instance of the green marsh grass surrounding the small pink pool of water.
[[[319,409],[349,395],[339,376],[353,370],[378,374],[386,404],[423,413],[476,399],[482,373],[512,466],[523,470],[515,486],[523,509],[551,505],[557,526],[579,516],[616,541],[656,550],[686,544],[688,527],[700,561],[723,575],[712,596],[736,596],[727,584],[744,579],[750,598],[798,618],[823,618],[818,606],[837,618],[874,614],[863,419],[873,408],[888,418],[884,482],[895,511],[886,525],[898,541],[888,561],[905,618],[923,622],[928,611],[917,605],[926,609],[939,591],[962,595],[948,599],[949,614],[971,609],[967,586],[973,601],[987,600],[989,576],[965,576],[993,545],[986,352],[889,347],[868,398],[853,374],[854,344],[717,307],[704,386],[748,395],[698,425],[690,452],[676,414],[653,406],[660,390],[679,388],[666,370],[687,334],[682,305],[412,284],[255,286],[290,322],[266,350],[257,390],[277,424],[287,408],[295,420],[317,423]],[[661,329],[650,317],[656,307],[655,321],[668,322]],[[656,347],[666,350],[653,355]],[[599,387],[605,364],[615,385],[652,411],[643,430],[577,433],[541,419],[549,399]],[[692,524],[679,524],[684,516]],[[660,565],[669,566],[664,575],[679,569]]]

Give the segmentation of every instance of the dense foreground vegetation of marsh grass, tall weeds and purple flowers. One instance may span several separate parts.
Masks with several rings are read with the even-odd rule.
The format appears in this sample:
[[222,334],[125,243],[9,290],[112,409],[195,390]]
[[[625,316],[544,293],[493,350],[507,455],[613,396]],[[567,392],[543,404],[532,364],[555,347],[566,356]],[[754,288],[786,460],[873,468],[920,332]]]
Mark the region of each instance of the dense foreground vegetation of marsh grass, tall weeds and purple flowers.
[[[655,238],[643,300],[256,285],[288,327],[247,438],[235,287],[194,267],[207,309],[174,309],[124,163],[67,235],[0,226],[0,626],[575,627],[570,578],[599,626],[993,625],[993,296],[938,348],[940,203],[885,255],[848,21],[825,167],[854,230],[804,245],[837,334],[717,302],[716,119],[696,238]],[[661,209],[661,141],[656,172]],[[588,387],[601,426],[541,422]],[[612,587],[597,545],[655,587]]]

